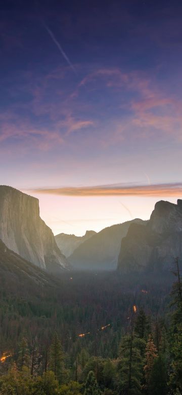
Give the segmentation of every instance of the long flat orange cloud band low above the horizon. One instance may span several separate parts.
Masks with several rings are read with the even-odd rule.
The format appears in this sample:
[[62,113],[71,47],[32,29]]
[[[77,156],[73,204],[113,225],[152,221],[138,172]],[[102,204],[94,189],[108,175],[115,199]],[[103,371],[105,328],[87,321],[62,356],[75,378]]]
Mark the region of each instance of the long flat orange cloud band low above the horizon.
[[182,183],[153,185],[98,185],[61,188],[35,188],[31,192],[67,196],[181,196]]

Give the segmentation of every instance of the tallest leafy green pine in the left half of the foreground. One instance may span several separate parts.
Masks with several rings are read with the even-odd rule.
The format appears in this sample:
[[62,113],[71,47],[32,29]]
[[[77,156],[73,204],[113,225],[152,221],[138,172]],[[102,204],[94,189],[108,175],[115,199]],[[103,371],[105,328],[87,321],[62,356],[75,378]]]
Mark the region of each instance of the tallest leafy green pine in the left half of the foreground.
[[61,341],[55,332],[53,342],[50,347],[50,370],[54,372],[55,380],[63,382],[64,376],[64,353],[61,345]]

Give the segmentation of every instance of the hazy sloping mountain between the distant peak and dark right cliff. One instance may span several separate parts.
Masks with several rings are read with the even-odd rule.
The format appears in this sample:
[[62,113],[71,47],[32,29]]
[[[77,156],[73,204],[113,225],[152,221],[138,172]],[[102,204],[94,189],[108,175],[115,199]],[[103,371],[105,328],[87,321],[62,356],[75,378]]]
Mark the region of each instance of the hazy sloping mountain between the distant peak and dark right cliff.
[[109,226],[82,243],[68,260],[75,269],[114,270],[117,267],[121,239],[131,223],[143,223],[141,219]]

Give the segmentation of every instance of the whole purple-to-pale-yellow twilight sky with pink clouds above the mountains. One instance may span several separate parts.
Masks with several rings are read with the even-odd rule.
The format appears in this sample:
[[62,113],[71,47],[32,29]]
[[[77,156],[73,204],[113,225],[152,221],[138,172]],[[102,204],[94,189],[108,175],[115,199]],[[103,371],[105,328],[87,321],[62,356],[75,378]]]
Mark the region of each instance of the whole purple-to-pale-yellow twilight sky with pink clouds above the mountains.
[[82,235],[182,198],[180,0],[2,1],[0,184]]

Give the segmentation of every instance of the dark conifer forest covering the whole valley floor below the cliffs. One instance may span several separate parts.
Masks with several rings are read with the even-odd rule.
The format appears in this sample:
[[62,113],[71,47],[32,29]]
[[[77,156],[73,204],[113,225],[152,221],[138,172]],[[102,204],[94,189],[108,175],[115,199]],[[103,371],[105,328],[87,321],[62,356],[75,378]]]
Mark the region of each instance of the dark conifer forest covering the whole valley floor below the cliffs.
[[1,395],[182,393],[182,282],[173,272],[1,278]]

